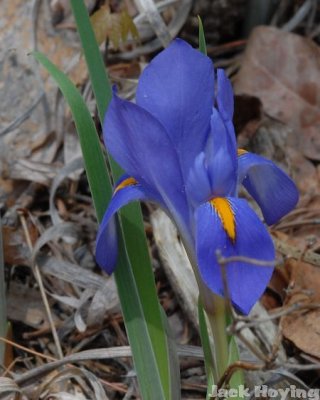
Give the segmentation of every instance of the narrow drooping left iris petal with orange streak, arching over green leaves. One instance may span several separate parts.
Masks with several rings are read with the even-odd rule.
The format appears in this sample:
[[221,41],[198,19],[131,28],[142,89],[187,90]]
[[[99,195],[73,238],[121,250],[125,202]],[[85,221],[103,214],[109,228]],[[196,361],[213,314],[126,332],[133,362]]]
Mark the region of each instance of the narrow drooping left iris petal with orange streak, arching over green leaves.
[[113,272],[118,257],[117,229],[113,216],[121,207],[137,200],[151,200],[161,204],[161,199],[155,193],[125,175],[116,185],[96,240],[96,260],[108,274]]

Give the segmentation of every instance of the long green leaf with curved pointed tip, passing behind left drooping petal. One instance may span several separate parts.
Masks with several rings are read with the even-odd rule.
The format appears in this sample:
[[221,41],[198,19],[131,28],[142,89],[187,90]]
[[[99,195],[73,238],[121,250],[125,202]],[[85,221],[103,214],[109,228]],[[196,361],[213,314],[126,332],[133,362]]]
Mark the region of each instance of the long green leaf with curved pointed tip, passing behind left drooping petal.
[[[34,56],[56,81],[70,106],[79,134],[88,182],[96,208],[97,217],[101,220],[110,200],[112,188],[107,174],[102,149],[98,140],[97,131],[90,112],[80,93],[69,78],[43,54],[36,52],[34,53]],[[151,322],[148,321],[148,323],[145,321],[145,310],[138,295],[137,285],[126,256],[121,234],[119,238],[119,246],[120,256],[115,276],[129,342],[132,347],[133,359],[139,379],[141,394],[144,399],[169,399],[170,397],[168,397],[164,392],[163,382],[160,380],[158,373],[158,360],[155,357],[154,343],[151,341],[150,332],[152,331],[155,336],[157,329],[159,329],[159,325],[154,325],[152,320]],[[163,331],[160,330],[158,334],[161,337]],[[164,345],[166,350],[167,343],[165,342]]]

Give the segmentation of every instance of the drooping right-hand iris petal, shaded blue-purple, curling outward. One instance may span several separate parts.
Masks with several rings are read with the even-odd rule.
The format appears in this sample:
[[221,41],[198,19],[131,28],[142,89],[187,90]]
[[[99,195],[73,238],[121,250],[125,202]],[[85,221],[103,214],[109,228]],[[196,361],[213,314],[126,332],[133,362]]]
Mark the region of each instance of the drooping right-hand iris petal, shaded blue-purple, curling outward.
[[240,151],[238,168],[239,183],[258,203],[267,224],[274,224],[297,204],[295,183],[272,161]]

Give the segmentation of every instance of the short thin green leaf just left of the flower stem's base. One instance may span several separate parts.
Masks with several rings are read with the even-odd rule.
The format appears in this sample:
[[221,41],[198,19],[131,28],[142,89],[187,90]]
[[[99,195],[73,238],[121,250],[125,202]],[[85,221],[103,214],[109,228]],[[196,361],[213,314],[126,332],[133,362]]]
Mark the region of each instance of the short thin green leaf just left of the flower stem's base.
[[207,396],[206,399],[211,399],[210,396],[212,387],[215,383],[215,369],[214,369],[214,358],[213,353],[211,351],[210,339],[208,335],[208,327],[206,323],[206,316],[203,310],[203,305],[201,299],[198,300],[198,317],[199,317],[199,330],[200,330],[200,338],[201,344],[203,348],[204,354],[204,366],[207,375]]

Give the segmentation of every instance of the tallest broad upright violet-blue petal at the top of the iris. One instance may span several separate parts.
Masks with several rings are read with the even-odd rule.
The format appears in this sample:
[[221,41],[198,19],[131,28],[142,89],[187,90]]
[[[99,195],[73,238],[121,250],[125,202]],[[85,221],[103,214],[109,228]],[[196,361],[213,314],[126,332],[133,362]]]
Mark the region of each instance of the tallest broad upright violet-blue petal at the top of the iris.
[[213,98],[211,60],[180,39],[156,56],[139,79],[137,104],[166,128],[186,174],[203,149]]

